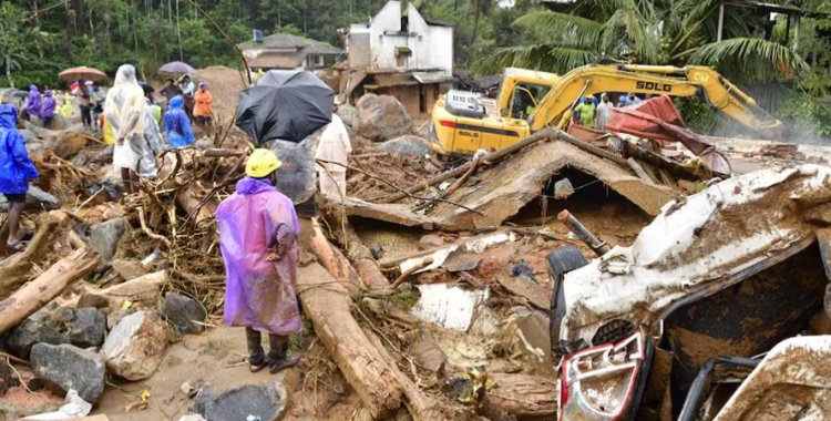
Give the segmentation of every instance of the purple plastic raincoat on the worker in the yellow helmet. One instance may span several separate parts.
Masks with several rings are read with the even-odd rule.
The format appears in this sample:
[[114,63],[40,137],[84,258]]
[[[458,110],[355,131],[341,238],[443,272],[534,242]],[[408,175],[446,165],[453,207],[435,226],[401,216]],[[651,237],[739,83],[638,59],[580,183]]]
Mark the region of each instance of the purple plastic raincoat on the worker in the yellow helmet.
[[266,260],[271,248],[299,233],[291,201],[269,182],[246,177],[219,204],[216,222],[227,279],[225,325],[280,336],[299,332],[296,242],[281,260]]

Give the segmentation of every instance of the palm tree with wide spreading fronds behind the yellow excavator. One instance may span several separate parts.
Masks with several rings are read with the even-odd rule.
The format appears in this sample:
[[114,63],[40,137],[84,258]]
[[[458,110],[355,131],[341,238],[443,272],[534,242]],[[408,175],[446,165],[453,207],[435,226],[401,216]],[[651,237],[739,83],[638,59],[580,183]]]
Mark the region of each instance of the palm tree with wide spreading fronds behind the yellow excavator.
[[584,0],[571,13],[535,11],[514,24],[538,42],[502,49],[480,69],[522,66],[567,72],[603,62],[717,65],[746,81],[807,66],[789,47],[752,37],[760,20],[745,2],[730,1],[722,41],[718,10],[727,0]]

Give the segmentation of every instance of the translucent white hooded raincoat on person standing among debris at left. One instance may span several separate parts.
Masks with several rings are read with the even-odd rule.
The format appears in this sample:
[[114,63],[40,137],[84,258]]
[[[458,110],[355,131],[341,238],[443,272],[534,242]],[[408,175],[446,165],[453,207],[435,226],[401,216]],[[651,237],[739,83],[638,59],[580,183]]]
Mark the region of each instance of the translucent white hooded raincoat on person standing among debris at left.
[[[123,64],[115,73],[115,84],[106,94],[104,117],[113,129],[116,140],[113,148],[113,166],[136,171],[144,154],[144,130],[146,124],[144,91],[135,79],[135,68]],[[119,144],[119,140],[124,142]]]

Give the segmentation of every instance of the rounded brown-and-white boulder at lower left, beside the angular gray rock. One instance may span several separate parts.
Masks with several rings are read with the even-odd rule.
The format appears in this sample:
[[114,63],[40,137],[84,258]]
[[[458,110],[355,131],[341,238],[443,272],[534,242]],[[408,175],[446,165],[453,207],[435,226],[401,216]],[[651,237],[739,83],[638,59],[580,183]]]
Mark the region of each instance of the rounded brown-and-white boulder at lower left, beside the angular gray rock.
[[150,378],[164,358],[165,324],[156,311],[136,311],[110,331],[102,352],[106,368],[127,380]]

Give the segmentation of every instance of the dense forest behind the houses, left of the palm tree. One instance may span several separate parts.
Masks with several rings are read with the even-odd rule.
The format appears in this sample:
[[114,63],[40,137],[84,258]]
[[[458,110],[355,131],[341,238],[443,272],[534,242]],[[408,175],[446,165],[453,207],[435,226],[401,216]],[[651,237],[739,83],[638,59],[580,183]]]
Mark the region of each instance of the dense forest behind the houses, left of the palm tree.
[[[287,32],[341,45],[338,30],[368,21],[386,0],[4,0],[0,4],[0,52],[16,85],[54,83],[59,71],[91,65],[107,73],[135,63],[143,73],[183,60],[195,68],[240,61],[223,29],[237,42],[252,30]],[[455,24],[456,62],[499,47],[515,45],[512,22],[533,9],[529,0],[500,8],[493,0],[417,2],[432,19]],[[211,20],[205,19],[198,9]],[[540,7],[536,7],[537,9]],[[4,55],[4,54],[3,54]],[[3,73],[4,74],[4,73]],[[8,84],[3,83],[3,84]]]

